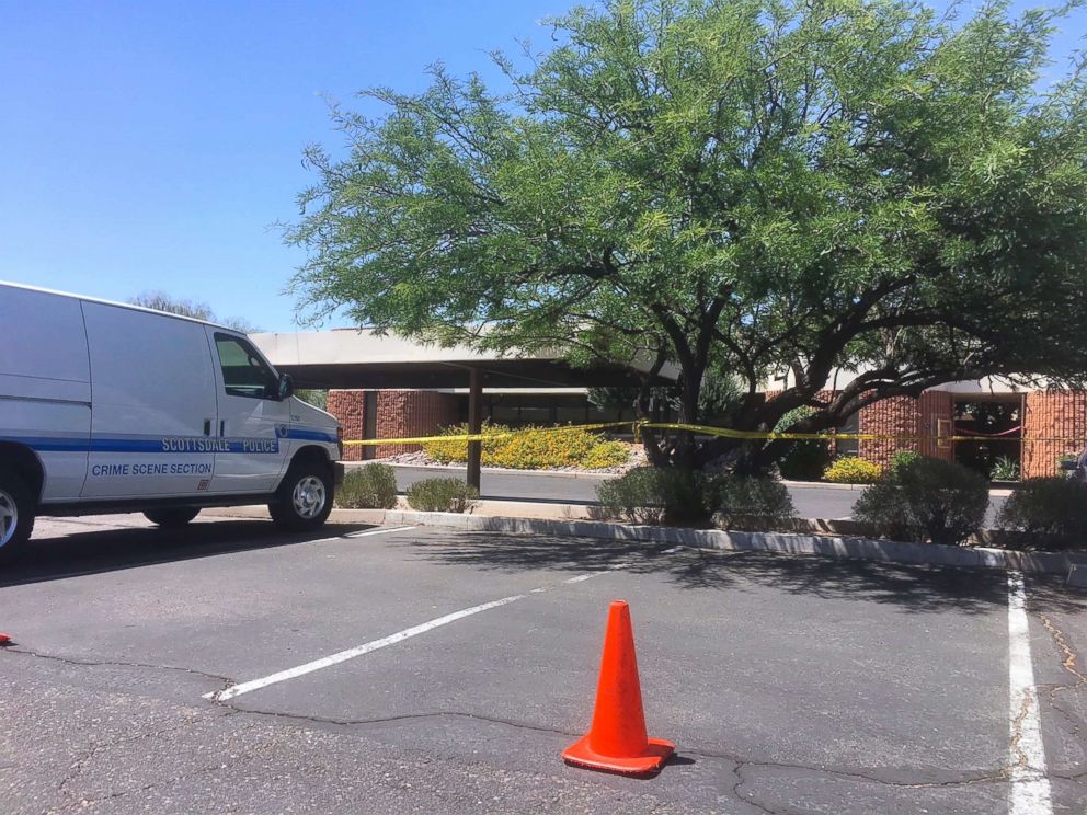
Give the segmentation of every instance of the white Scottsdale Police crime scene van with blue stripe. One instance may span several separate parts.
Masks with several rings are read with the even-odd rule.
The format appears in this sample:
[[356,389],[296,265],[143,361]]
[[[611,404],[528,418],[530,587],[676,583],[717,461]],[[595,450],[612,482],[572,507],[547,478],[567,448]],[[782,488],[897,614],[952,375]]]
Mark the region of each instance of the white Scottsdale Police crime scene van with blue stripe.
[[36,515],[267,503],[324,523],[343,479],[334,417],[293,397],[237,331],[0,283],[0,559]]

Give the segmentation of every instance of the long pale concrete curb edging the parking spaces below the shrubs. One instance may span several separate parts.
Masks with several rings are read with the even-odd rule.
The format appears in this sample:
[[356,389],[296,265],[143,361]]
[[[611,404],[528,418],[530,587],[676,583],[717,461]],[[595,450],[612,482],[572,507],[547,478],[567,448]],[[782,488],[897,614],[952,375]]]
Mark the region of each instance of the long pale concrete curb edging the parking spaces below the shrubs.
[[[263,506],[231,507],[209,514],[243,518],[267,518]],[[948,547],[937,543],[906,543],[847,536],[786,532],[742,532],[721,529],[683,529],[678,527],[633,526],[600,520],[562,520],[556,518],[514,518],[457,513],[420,513],[407,509],[333,509],[330,521],[377,524],[386,526],[433,526],[478,532],[515,535],[554,535],[570,538],[667,543],[694,549],[721,551],[816,554],[838,560],[868,560],[909,565],[958,566],[964,569],[1004,569],[1028,574],[1067,576],[1080,565],[1079,554],[1059,552],[1017,552],[987,547]]]

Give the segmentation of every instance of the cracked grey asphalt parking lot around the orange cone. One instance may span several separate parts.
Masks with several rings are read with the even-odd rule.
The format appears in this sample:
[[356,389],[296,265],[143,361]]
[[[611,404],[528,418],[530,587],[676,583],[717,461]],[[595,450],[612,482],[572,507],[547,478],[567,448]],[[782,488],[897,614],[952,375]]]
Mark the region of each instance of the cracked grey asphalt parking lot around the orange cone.
[[[1087,811],[1087,594],[1055,579],[1023,617],[998,572],[140,516],[35,538],[0,575],[4,813]],[[677,745],[649,780],[560,759],[617,598]]]

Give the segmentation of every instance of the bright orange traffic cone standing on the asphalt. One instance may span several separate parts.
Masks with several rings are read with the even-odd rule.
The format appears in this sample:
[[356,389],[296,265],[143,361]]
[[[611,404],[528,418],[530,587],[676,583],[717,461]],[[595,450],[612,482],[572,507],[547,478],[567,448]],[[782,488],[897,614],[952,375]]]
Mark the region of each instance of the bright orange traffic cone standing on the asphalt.
[[591,770],[649,776],[659,772],[675,749],[671,742],[645,736],[630,607],[616,600],[608,611],[593,725],[563,750],[562,758],[569,765]]

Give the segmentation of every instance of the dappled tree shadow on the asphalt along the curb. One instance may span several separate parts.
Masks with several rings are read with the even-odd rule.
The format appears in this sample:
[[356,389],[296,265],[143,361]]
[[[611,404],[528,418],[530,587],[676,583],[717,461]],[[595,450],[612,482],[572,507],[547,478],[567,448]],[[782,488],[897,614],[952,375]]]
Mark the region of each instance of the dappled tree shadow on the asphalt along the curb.
[[[682,550],[670,544],[586,539],[460,533],[448,542],[419,540],[419,556],[449,565],[523,571],[594,571],[626,564],[634,574],[662,574],[687,589],[745,590],[767,586],[831,599],[874,601],[909,611],[957,609],[982,613],[1007,606],[1007,576],[996,570],[884,564],[767,552]],[[1087,610],[1087,593],[1067,589],[1055,575],[1029,578],[1031,607]]]

